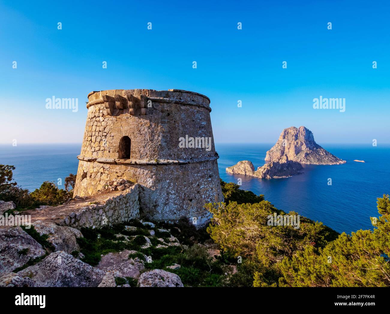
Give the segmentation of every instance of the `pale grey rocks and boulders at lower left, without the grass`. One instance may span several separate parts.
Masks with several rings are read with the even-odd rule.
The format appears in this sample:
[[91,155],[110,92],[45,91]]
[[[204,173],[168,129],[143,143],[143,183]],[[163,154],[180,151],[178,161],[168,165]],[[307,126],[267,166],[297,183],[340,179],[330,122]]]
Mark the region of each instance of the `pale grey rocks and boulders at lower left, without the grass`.
[[[135,246],[141,249],[153,245],[161,248],[180,246],[168,230],[156,228],[151,222],[142,225],[150,229],[124,226],[124,230],[132,230],[134,235],[116,234],[115,242],[133,243],[137,239]],[[34,222],[33,226],[30,230],[20,226],[0,228],[0,286],[124,287],[137,283],[142,287],[183,287],[179,276],[174,273],[158,269],[145,271],[145,263],[151,263],[152,258],[136,250],[101,254],[99,263],[91,266],[83,261],[85,256],[79,252],[78,239],[83,238],[81,231],[53,223]],[[148,236],[137,235],[146,231]],[[164,237],[158,237],[162,235]],[[112,247],[112,250],[116,248]]]

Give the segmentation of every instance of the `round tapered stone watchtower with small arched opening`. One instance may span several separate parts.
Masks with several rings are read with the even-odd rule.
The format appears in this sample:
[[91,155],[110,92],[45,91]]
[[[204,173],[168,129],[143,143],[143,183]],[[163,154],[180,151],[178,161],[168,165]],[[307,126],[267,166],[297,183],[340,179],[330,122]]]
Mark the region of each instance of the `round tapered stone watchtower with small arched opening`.
[[144,217],[204,224],[204,204],[223,201],[210,99],[147,89],[91,92],[88,99],[74,196],[126,179],[140,185]]

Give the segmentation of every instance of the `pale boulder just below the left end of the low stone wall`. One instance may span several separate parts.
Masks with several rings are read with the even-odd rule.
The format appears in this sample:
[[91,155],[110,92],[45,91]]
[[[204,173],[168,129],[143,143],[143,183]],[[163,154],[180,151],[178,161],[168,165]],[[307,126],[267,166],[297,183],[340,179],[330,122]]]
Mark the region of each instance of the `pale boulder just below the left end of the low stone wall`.
[[80,230],[58,226],[53,222],[35,221],[32,225],[40,235],[49,235],[47,241],[53,245],[54,251],[65,251],[71,254],[73,251],[80,250],[76,242],[76,238],[83,236]]

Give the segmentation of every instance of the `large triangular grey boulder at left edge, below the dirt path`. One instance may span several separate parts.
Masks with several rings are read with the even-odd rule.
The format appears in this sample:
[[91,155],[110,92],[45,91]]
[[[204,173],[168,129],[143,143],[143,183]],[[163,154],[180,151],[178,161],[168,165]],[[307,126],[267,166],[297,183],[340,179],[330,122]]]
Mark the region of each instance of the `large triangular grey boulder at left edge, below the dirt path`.
[[0,273],[12,272],[45,253],[42,245],[20,226],[0,227]]

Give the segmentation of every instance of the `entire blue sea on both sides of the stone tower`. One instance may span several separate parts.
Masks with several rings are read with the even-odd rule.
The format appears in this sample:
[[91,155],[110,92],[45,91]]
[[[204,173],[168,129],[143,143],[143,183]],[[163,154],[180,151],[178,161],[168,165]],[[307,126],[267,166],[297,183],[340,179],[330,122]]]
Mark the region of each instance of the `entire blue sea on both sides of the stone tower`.
[[[242,189],[264,194],[275,207],[294,210],[314,221],[322,221],[338,232],[372,229],[370,217],[378,216],[376,198],[390,194],[390,146],[321,145],[346,164],[306,165],[305,173],[281,179],[258,179],[231,175],[225,168],[238,161],[252,161],[255,168],[264,164],[273,144],[216,144],[220,155],[220,177],[226,182],[242,179]],[[58,182],[76,174],[81,144],[0,146],[0,164],[12,164],[14,180],[33,191],[44,181]],[[354,162],[354,159],[364,160]],[[332,185],[328,185],[328,178]],[[61,187],[61,186],[60,186]]]

